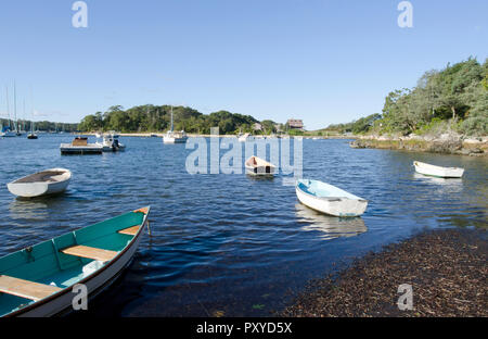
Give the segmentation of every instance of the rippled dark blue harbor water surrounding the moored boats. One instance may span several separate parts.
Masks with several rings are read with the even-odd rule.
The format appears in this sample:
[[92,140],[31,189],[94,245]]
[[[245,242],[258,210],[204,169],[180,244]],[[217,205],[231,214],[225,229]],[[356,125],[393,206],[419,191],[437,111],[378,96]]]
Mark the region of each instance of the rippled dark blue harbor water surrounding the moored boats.
[[[300,205],[280,176],[189,175],[191,150],[160,138],[123,138],[124,153],[61,156],[70,139],[0,139],[0,255],[151,205],[152,237],[90,315],[266,316],[370,250],[425,228],[487,226],[486,159],[304,140],[305,177],[370,201],[362,218],[338,219]],[[465,176],[420,177],[413,160],[462,166]],[[49,167],[73,172],[65,194],[25,201],[4,186]]]

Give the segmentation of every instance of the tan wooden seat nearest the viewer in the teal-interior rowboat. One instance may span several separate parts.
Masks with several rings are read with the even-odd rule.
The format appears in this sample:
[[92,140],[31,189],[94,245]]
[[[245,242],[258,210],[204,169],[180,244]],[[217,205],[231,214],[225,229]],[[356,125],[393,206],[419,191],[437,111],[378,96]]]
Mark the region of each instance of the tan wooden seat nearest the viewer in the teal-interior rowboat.
[[61,290],[55,286],[0,275],[0,292],[2,293],[38,301]]

